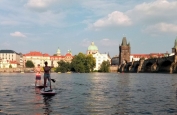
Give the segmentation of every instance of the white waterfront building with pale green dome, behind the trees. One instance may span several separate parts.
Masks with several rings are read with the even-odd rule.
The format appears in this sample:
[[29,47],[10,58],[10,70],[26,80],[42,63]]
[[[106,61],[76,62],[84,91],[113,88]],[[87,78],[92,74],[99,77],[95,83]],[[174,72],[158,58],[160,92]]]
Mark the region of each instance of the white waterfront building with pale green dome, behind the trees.
[[94,42],[92,42],[91,45],[87,48],[87,55],[89,54],[91,54],[96,60],[96,66],[94,70],[99,70],[103,61],[111,61],[109,54],[99,53],[98,47],[94,44]]

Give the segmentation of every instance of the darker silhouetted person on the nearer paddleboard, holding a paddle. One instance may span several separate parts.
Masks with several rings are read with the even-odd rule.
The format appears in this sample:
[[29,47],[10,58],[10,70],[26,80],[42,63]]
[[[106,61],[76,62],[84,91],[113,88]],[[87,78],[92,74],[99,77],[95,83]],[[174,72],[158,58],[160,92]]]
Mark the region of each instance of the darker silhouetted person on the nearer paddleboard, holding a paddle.
[[47,61],[44,63],[45,66],[43,67],[44,69],[44,91],[45,91],[45,87],[46,87],[46,82],[48,80],[49,84],[50,84],[50,90],[52,90],[51,87],[51,78],[50,78],[50,71],[53,68],[53,66],[48,66]]

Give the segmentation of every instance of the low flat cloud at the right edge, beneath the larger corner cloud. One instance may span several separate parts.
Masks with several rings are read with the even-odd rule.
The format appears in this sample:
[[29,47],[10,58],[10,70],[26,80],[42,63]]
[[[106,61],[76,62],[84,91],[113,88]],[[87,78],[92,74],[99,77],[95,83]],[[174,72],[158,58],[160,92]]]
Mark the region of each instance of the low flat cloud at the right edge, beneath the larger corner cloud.
[[177,33],[177,25],[158,23],[155,25],[148,26],[145,30],[143,30],[143,32],[150,33],[150,34]]

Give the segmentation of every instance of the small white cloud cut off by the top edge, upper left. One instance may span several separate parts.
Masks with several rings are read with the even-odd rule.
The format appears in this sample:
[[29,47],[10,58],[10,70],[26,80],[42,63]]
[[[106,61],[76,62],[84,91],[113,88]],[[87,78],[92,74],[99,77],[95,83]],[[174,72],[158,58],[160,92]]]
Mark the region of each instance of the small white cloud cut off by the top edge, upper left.
[[25,6],[34,11],[44,12],[56,1],[57,0],[28,0]]

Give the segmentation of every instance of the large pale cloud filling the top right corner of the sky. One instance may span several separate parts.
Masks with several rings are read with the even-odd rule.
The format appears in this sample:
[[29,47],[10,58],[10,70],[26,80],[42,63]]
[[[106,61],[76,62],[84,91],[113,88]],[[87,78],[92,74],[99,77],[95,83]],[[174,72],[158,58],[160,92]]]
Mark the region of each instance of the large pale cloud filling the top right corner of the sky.
[[156,0],[155,2],[136,5],[132,10],[125,12],[132,21],[158,23],[165,21],[176,22],[177,1]]

